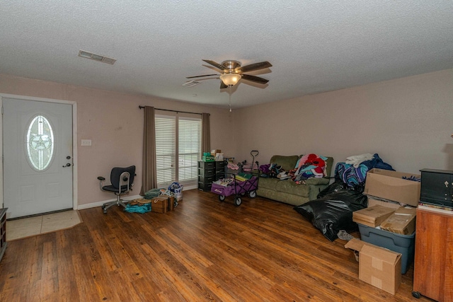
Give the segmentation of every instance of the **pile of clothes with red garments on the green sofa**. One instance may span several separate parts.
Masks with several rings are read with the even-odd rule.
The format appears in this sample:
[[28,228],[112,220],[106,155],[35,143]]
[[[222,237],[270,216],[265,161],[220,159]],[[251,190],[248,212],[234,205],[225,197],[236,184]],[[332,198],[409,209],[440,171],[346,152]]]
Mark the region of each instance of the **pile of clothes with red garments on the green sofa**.
[[281,165],[276,163],[260,165],[260,177],[280,178],[280,180],[291,179],[297,183],[309,178],[323,178],[327,175],[326,160],[325,156],[310,153],[299,158],[294,169],[289,171],[285,171]]

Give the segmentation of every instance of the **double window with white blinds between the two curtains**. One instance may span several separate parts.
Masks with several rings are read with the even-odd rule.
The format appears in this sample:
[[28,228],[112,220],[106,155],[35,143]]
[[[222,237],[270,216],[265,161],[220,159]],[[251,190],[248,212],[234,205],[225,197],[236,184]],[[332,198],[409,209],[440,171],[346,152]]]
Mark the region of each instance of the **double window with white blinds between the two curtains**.
[[201,117],[156,115],[158,187],[177,181],[196,185],[201,158]]

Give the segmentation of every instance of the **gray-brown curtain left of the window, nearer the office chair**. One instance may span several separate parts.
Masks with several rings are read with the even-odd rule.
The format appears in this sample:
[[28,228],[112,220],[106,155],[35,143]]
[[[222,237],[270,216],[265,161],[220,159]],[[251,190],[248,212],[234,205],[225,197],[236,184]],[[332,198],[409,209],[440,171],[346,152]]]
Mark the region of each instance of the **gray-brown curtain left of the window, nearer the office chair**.
[[156,127],[154,122],[154,107],[144,108],[143,131],[143,169],[142,190],[140,195],[157,187],[156,175]]

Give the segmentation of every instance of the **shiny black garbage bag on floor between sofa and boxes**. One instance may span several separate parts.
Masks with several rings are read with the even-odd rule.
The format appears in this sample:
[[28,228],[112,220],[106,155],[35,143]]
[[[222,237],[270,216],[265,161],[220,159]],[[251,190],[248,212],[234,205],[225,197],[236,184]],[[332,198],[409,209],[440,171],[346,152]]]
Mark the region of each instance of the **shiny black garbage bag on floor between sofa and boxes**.
[[[299,214],[319,229],[328,240],[336,240],[340,230],[357,230],[357,223],[352,221],[352,212],[367,207],[367,196],[356,190],[348,190],[334,182],[326,190],[330,194],[321,194],[319,199],[294,207]],[[318,196],[319,196],[318,195]]]

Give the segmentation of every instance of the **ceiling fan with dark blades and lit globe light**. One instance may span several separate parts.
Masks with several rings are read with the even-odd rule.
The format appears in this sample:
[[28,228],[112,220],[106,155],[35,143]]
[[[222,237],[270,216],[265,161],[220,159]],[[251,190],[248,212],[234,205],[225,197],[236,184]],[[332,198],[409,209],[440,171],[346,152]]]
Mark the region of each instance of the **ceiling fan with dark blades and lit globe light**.
[[[269,80],[260,78],[259,76],[244,74],[244,72],[256,71],[272,66],[272,64],[267,61],[253,63],[246,66],[241,66],[241,62],[234,60],[226,60],[222,62],[222,64],[205,59],[203,61],[219,69],[218,72],[221,73],[219,78],[222,80],[222,82],[220,83],[220,89],[234,86],[239,82],[240,79],[260,84],[268,83]],[[218,74],[204,74],[202,76],[218,76]],[[187,76],[186,79],[200,78],[202,76]]]

